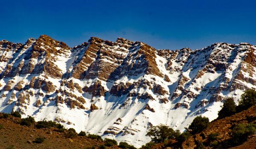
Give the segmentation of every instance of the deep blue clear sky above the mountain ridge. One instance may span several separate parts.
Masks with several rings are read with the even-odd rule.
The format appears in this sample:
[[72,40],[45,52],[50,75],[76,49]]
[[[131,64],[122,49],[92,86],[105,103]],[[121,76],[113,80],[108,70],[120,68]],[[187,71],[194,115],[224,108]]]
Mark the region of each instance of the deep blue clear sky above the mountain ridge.
[[157,49],[256,44],[255,0],[2,0],[0,40],[47,34],[70,47],[91,36]]

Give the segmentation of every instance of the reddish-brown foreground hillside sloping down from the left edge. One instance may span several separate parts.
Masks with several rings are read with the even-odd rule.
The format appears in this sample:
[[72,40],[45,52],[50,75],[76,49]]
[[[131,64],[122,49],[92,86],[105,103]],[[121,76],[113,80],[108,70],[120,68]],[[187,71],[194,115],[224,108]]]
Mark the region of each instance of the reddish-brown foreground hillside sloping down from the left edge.
[[[0,113],[0,117],[2,115]],[[86,136],[67,138],[67,130],[58,132],[58,129],[53,127],[37,129],[35,125],[21,126],[20,120],[11,115],[8,118],[0,118],[0,149],[11,146],[12,149],[98,149],[100,145],[104,145],[104,141]],[[45,138],[44,142],[34,143],[38,137]],[[119,148],[114,145],[108,149]]]

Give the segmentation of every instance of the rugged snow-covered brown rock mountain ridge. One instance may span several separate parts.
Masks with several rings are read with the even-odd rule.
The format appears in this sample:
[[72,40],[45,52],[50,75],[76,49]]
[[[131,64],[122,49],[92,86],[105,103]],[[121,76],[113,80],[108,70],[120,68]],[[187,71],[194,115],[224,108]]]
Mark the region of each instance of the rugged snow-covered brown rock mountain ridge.
[[0,41],[0,112],[55,120],[134,146],[160,123],[184,130],[215,119],[225,97],[256,88],[256,46],[215,43],[156,50],[142,42],[91,37],[74,48],[47,35]]

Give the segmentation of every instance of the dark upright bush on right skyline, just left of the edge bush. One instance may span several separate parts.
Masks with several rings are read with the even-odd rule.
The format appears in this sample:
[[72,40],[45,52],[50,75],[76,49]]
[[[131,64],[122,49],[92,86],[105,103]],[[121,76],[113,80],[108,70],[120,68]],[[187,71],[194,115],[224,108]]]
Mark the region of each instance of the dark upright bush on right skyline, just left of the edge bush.
[[223,103],[222,109],[218,112],[218,118],[224,118],[236,113],[236,103],[232,97],[228,97]]

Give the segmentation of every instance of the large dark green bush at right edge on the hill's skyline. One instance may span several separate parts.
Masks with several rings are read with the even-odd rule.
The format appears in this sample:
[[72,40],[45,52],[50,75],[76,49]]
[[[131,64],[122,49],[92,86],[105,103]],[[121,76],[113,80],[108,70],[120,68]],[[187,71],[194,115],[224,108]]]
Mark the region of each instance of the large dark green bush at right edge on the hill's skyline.
[[238,111],[246,110],[256,104],[256,91],[248,89],[241,95],[241,100],[237,106]]

